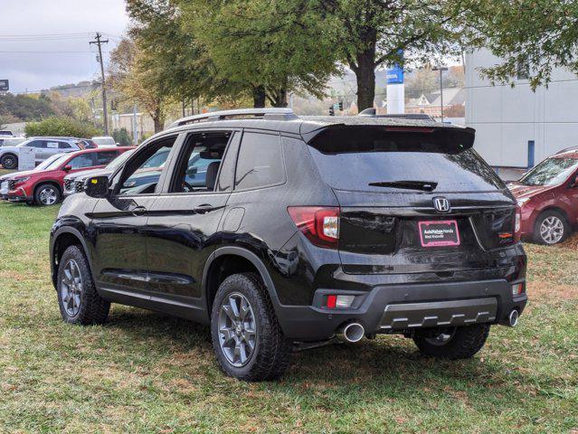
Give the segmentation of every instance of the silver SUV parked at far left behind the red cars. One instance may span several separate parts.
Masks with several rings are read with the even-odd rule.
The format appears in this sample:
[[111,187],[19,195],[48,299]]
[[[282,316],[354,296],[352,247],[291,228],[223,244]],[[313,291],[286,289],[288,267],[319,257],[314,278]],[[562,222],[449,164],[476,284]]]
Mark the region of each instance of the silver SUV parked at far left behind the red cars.
[[82,149],[77,140],[68,137],[32,137],[16,146],[0,147],[0,164],[5,169],[17,169],[18,156],[23,147],[33,147],[35,149],[36,165],[42,163],[50,156]]

